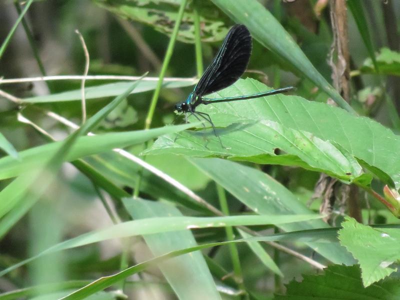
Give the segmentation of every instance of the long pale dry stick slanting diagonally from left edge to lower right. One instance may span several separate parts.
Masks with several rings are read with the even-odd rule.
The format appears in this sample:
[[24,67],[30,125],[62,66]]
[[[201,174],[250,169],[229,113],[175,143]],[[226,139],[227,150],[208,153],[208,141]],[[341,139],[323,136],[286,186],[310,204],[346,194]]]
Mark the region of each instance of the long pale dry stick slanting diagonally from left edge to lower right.
[[[19,103],[19,101],[21,101],[21,99],[8,94],[4,91],[2,91],[0,89],[0,95],[13,101],[16,103]],[[77,129],[79,128],[78,125],[76,125],[75,123],[67,120],[66,118],[56,114],[55,112],[52,111],[46,111],[44,110],[44,113],[46,115],[48,115],[49,117],[59,121],[60,123],[71,127],[73,129]],[[89,132],[87,133],[87,135],[94,135],[94,133]],[[195,200],[196,202],[200,203],[201,205],[203,205],[204,207],[206,207],[207,209],[209,209],[211,212],[213,212],[215,215],[220,215],[220,216],[224,216],[224,214],[222,213],[222,211],[220,211],[219,209],[217,209],[216,207],[214,207],[213,205],[209,204],[206,200],[204,200],[202,197],[200,197],[199,195],[197,195],[196,193],[194,193],[190,188],[186,187],[185,185],[183,185],[182,183],[180,183],[179,181],[177,181],[176,179],[172,178],[171,176],[169,176],[168,174],[162,172],[161,170],[157,169],[156,167],[152,166],[151,164],[145,162],[144,160],[140,159],[139,157],[123,150],[120,148],[114,148],[112,149],[113,151],[117,152],[118,154],[122,155],[123,157],[129,159],[130,161],[133,161],[135,163],[137,163],[138,165],[142,166],[143,168],[147,169],[148,171],[152,172],[153,174],[157,175],[158,177],[160,177],[161,179],[163,179],[164,181],[168,182],[169,184],[171,184],[173,187],[177,188],[178,190],[180,190],[181,192],[183,192],[184,194],[186,194],[188,197],[190,197],[191,199]],[[260,234],[256,231],[253,231],[249,228],[247,228],[246,226],[237,226],[238,228],[242,229],[243,231],[252,234],[252,235],[258,235],[260,236]],[[308,262],[309,264],[313,265],[314,267],[318,268],[318,269],[322,269],[325,266],[301,253],[298,253],[288,247],[285,247],[281,244],[278,244],[276,242],[273,241],[265,241],[265,243],[271,245],[272,247],[275,247],[283,252],[286,252],[290,255],[293,255],[305,262]]]

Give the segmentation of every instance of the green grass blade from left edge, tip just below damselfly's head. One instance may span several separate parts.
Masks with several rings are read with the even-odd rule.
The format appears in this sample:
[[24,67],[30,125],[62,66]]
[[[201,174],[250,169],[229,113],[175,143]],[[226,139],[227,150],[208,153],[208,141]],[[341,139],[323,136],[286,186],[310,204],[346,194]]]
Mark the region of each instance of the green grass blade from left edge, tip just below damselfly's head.
[[[142,143],[161,134],[176,132],[191,127],[191,124],[164,126],[149,130],[112,132],[93,136],[81,136],[66,154],[64,160],[71,161],[87,155],[109,151],[112,148],[123,148]],[[26,169],[36,168],[42,161],[54,153],[61,141],[51,142],[19,152],[20,160],[10,156],[0,158],[0,179],[17,176]]]

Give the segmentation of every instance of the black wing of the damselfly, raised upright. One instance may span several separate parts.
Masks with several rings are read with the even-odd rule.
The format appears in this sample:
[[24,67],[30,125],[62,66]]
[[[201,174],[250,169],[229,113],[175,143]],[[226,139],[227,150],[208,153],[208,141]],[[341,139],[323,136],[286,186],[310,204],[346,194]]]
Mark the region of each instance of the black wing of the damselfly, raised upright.
[[198,81],[194,94],[207,95],[233,84],[245,71],[250,54],[250,32],[244,25],[234,25]]

